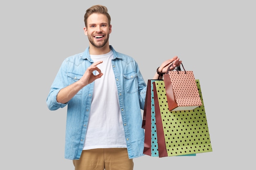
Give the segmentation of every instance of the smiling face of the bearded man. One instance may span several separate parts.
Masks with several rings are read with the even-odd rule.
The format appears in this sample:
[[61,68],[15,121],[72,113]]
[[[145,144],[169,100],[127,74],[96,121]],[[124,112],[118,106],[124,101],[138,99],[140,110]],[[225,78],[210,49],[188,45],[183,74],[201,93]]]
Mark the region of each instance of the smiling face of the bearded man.
[[101,48],[108,42],[111,25],[108,25],[106,15],[93,13],[87,19],[87,28],[84,27],[84,32],[93,46]]

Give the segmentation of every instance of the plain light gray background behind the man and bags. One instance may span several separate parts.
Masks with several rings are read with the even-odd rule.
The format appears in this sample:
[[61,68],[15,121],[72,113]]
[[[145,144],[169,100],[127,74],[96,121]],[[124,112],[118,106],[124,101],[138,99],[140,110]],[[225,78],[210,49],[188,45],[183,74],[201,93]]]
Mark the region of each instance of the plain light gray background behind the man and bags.
[[65,57],[83,52],[83,15],[112,17],[110,44],[137,60],[145,81],[175,55],[200,79],[213,152],[134,159],[141,169],[255,169],[253,0],[0,2],[1,170],[72,170],[64,159],[66,108],[46,98]]

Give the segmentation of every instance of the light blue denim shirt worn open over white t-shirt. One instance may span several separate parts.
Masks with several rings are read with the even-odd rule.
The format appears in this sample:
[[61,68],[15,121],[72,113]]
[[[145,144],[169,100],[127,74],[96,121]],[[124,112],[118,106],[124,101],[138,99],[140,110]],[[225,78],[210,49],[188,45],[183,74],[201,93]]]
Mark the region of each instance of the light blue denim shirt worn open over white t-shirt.
[[[129,158],[140,157],[144,149],[144,129],[141,128],[141,109],[144,109],[146,83],[135,60],[118,53],[110,46],[114,59],[115,74],[121,116],[126,137]],[[67,105],[65,136],[65,158],[79,159],[83,150],[88,118],[91,109],[94,82],[83,87],[69,102],[58,103],[56,96],[61,88],[78,81],[93,63],[89,47],[83,52],[67,57],[54,79],[46,103],[49,110],[57,110]],[[115,85],[113,82],[113,86]]]

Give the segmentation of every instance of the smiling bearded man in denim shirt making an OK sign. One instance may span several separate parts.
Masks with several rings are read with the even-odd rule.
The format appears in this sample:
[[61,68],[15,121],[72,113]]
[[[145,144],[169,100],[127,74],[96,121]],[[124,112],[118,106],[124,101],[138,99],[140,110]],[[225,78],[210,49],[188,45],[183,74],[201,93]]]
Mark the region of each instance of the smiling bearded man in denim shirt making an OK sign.
[[[132,159],[143,155],[146,83],[137,62],[109,45],[110,20],[104,6],[86,11],[89,47],[63,61],[47,97],[50,110],[68,107],[65,158],[75,170],[132,170]],[[166,60],[153,79],[170,62],[181,63]]]

